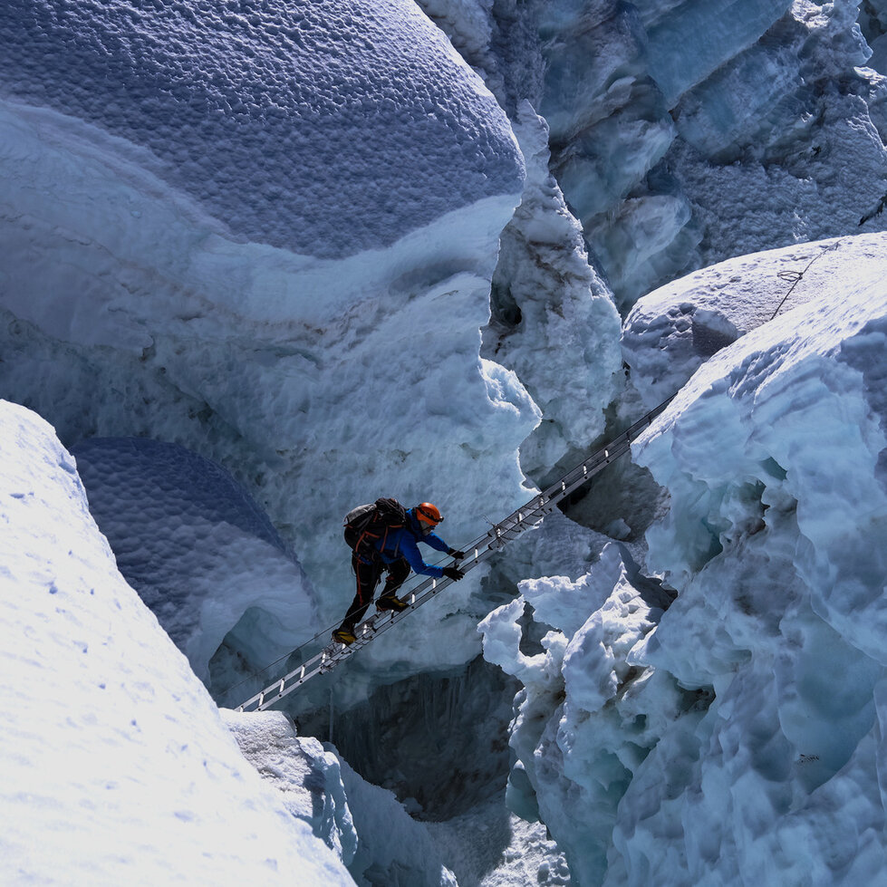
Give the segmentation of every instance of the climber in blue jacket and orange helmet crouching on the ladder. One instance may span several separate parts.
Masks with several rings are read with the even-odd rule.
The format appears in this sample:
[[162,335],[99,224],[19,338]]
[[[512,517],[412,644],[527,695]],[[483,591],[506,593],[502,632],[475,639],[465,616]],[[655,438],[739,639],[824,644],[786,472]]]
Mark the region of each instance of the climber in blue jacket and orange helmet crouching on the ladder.
[[437,506],[430,502],[404,510],[395,499],[377,499],[375,505],[359,506],[345,516],[345,541],[352,546],[352,569],[357,577],[357,593],[348,608],[342,625],[333,632],[333,641],[350,644],[356,640],[354,627],[372,601],[382,571],[388,578],[376,601],[377,610],[405,610],[407,603],[395,592],[410,575],[416,573],[458,582],[464,575],[455,565],[445,567],[426,564],[417,543],[423,542],[454,560],[465,552],[450,548],[434,529],[443,521]]

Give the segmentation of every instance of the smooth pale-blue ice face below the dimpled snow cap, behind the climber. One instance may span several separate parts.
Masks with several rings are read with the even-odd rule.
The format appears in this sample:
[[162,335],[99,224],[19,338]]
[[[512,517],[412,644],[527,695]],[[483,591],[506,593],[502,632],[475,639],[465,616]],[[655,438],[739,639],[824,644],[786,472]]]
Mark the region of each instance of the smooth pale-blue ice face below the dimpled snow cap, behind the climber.
[[[470,122],[458,84],[440,83]],[[468,206],[413,219],[388,249],[317,259],[235,242],[156,163],[98,126],[6,101],[0,128],[0,384],[66,444],[175,441],[227,468],[294,551],[331,628],[353,596],[340,531],[356,504],[438,502],[458,542],[484,525],[477,489],[489,489],[496,514],[525,500],[517,447],[539,412],[513,372],[478,356],[497,240],[522,177],[511,193],[475,189]],[[261,146],[238,161],[236,190],[251,192],[262,162]],[[390,159],[385,169],[400,175]],[[410,187],[422,194],[427,183]],[[464,585],[448,612],[471,596]],[[477,655],[470,619],[448,621],[439,644],[424,631],[405,639],[418,668]],[[290,648],[313,633],[291,634]],[[382,649],[381,659],[403,652]]]

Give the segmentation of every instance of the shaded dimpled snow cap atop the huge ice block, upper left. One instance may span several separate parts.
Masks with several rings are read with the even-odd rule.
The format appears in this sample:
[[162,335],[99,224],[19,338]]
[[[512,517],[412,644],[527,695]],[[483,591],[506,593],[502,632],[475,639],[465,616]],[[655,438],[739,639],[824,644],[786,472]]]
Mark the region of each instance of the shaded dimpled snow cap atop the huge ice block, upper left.
[[519,188],[505,115],[408,0],[11,0],[0,89],[148,149],[236,237],[337,257]]

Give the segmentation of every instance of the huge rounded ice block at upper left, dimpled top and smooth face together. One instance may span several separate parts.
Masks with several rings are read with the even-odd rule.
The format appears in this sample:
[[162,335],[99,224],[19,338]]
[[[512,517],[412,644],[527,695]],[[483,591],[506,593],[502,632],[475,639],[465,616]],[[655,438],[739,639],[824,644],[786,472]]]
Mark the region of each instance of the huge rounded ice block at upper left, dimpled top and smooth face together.
[[[9,397],[69,444],[148,437],[227,468],[294,549],[322,625],[352,598],[352,506],[436,501],[458,544],[484,524],[478,490],[494,514],[525,498],[537,411],[478,356],[523,160],[414,5],[9,12]],[[459,617],[421,640],[446,614],[403,639],[419,663],[477,653]]]

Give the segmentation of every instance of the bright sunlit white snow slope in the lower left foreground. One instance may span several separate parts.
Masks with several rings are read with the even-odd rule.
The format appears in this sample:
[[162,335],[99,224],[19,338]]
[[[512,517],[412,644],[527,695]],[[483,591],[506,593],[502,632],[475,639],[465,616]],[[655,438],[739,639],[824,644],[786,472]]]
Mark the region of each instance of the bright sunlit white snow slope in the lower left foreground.
[[351,884],[123,581],[53,429],[0,419],[0,881]]

